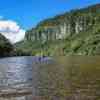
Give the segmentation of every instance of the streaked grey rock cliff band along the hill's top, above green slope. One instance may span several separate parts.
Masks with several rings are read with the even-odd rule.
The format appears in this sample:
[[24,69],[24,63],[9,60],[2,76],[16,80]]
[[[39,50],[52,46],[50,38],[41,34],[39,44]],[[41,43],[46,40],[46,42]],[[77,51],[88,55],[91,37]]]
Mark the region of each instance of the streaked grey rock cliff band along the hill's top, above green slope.
[[64,39],[73,34],[85,32],[100,21],[100,5],[71,11],[47,19],[26,32],[28,41]]

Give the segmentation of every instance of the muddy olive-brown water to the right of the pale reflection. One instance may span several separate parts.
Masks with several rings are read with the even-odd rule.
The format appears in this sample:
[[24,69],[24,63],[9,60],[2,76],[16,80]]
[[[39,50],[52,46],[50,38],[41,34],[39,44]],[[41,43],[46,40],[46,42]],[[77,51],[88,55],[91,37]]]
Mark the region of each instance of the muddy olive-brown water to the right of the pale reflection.
[[100,100],[100,56],[54,57],[53,62],[33,70],[33,96],[45,97],[42,100]]

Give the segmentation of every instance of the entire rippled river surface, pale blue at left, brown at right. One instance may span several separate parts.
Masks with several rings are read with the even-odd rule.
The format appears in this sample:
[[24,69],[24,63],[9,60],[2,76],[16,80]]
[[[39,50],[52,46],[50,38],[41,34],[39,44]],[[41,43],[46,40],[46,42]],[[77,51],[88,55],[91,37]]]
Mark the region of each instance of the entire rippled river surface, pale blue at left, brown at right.
[[[34,98],[44,97],[34,100],[99,100],[100,57],[1,59],[0,93],[23,96],[31,92]],[[16,100],[33,99],[24,96]]]

